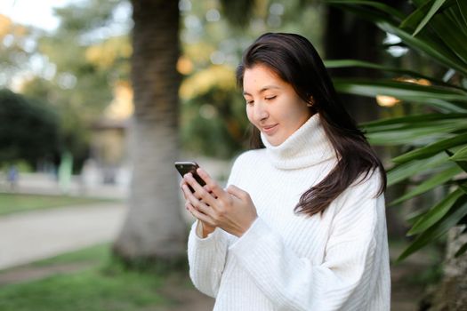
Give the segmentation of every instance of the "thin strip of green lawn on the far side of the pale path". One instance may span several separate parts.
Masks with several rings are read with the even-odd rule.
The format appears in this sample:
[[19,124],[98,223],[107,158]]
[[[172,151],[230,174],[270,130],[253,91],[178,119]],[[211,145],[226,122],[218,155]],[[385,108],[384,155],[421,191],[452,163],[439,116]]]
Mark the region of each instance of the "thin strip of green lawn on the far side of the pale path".
[[71,195],[24,195],[0,193],[0,215],[52,207],[112,202],[112,200]]

